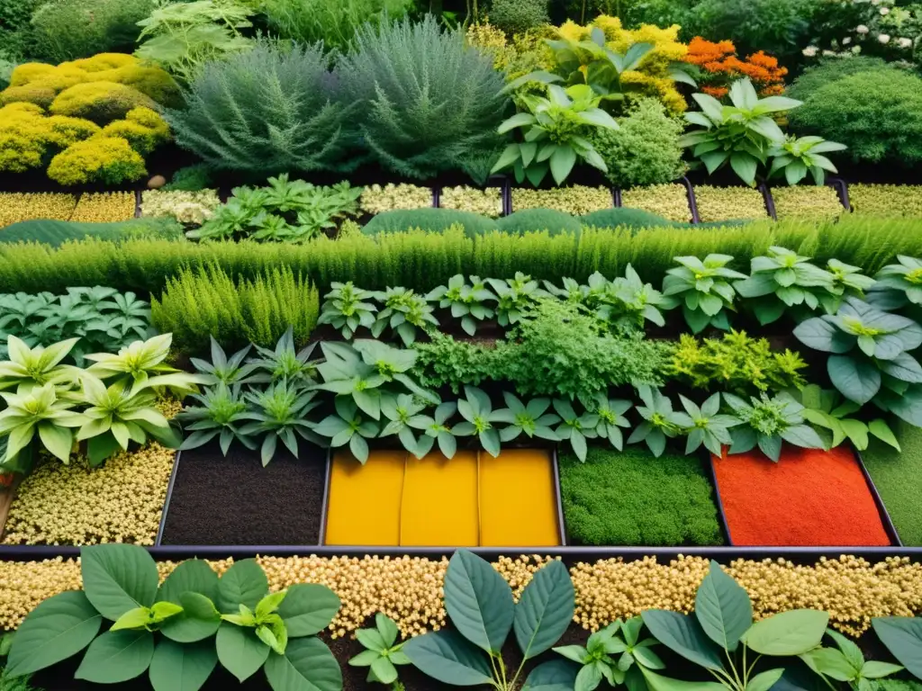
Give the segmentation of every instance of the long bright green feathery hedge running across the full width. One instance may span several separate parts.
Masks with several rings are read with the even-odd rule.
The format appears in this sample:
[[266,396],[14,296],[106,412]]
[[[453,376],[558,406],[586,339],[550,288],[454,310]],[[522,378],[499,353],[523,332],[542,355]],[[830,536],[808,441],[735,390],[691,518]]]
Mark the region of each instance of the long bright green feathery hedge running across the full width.
[[585,281],[595,271],[623,275],[628,263],[656,285],[675,256],[721,252],[748,271],[751,257],[771,245],[813,256],[820,264],[834,257],[874,274],[897,254],[922,256],[922,224],[850,216],[837,223],[767,221],[736,228],[650,228],[634,235],[625,228],[587,228],[578,240],[573,234],[500,232],[471,239],[453,228],[445,233],[321,238],[303,245],[130,239],[117,244],[78,240],[54,249],[19,243],[0,246],[0,292],[63,293],[66,287],[100,285],[160,293],[183,266],[212,262],[230,275],[250,279],[288,265],[310,278],[321,294],[331,281],[348,280],[374,290],[428,290],[458,273],[512,276],[522,271],[554,281],[561,275]]

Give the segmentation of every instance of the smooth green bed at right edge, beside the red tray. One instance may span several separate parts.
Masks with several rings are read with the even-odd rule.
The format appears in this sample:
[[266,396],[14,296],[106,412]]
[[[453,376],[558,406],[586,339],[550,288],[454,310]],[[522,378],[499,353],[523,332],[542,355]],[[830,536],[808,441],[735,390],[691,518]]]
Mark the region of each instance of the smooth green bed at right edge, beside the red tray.
[[900,540],[922,546],[922,428],[901,421],[893,431],[902,452],[871,439],[861,455]]

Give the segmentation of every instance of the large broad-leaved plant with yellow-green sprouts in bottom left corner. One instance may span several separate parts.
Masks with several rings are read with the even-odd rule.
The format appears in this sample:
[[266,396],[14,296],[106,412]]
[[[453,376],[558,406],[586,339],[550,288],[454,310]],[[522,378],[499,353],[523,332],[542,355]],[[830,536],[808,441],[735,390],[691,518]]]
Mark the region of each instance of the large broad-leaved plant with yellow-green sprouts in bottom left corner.
[[[220,579],[204,561],[191,559],[158,586],[157,564],[143,547],[93,545],[80,556],[83,590],[54,595],[26,617],[8,673],[34,673],[87,649],[75,677],[97,684],[148,673],[155,691],[195,688],[219,662],[241,681],[262,668],[274,691],[292,683],[342,683],[336,659],[315,636],[339,609],[339,598],[325,586],[296,584],[268,595],[266,573],[254,559],[235,562]],[[228,620],[253,609],[261,621],[278,616],[269,619],[269,630],[277,643],[287,639],[284,653],[256,628]],[[100,634],[103,619],[121,626]]]

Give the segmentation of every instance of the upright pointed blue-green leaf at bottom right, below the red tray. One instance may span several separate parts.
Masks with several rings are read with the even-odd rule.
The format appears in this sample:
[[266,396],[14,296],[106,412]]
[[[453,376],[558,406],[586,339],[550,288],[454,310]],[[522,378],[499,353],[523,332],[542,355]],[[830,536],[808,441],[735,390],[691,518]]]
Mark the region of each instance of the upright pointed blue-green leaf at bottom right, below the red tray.
[[704,633],[721,648],[737,650],[739,637],[752,626],[752,604],[746,590],[712,560],[694,603]]

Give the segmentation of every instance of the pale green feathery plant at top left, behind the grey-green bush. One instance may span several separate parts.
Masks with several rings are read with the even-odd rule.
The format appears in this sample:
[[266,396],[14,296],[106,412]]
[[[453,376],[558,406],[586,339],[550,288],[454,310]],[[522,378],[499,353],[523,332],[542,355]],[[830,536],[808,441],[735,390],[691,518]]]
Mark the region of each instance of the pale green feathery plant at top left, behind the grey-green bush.
[[190,83],[202,68],[252,48],[240,29],[253,26],[254,11],[236,0],[195,0],[163,4],[137,22],[137,57],[159,63]]

